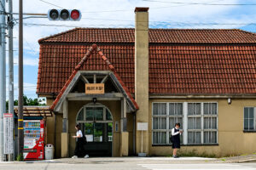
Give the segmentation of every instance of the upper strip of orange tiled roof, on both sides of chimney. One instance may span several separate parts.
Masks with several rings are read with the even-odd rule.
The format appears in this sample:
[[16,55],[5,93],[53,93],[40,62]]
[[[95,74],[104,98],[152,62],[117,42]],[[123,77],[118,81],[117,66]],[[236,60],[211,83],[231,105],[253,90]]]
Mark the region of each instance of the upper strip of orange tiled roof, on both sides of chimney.
[[[75,28],[38,42],[134,42],[132,28]],[[248,43],[255,34],[238,29],[149,29],[151,43]]]

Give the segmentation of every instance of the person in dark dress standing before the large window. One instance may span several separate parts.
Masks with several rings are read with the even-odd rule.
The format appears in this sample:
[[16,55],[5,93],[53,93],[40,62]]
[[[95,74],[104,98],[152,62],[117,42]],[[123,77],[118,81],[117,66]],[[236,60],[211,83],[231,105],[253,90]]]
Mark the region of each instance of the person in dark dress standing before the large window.
[[173,157],[177,158],[177,149],[180,149],[180,134],[183,133],[182,130],[179,129],[180,123],[175,123],[175,127],[172,128],[172,149],[173,149]]

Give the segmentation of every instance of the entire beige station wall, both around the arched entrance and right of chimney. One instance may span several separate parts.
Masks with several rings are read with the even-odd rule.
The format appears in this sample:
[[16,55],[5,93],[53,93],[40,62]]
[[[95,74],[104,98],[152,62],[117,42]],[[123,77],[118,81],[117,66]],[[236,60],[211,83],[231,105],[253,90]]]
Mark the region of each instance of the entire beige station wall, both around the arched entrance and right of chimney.
[[[256,107],[255,99],[232,99],[231,105],[228,105],[227,99],[150,99],[148,106],[148,148],[150,156],[168,156],[172,155],[171,146],[152,146],[152,102],[218,102],[218,145],[202,145],[202,146],[182,146],[182,151],[196,150],[199,153],[214,154],[216,156],[240,155],[245,153],[256,152],[256,133],[243,133],[243,108],[245,106]],[[75,133],[75,118],[79,109],[86,105],[86,101],[69,101],[68,117],[69,117],[69,136]],[[120,131],[115,132],[115,123],[120,120],[120,101],[99,101],[102,105],[106,105],[113,114],[113,156],[119,156],[120,151]],[[47,144],[54,144],[54,119],[47,118]],[[120,122],[119,122],[120,123]],[[120,127],[120,124],[119,124]],[[62,115],[56,115],[56,156],[61,156],[61,131],[62,131]],[[133,116],[127,114],[127,131],[129,133],[129,155],[133,153]],[[140,139],[140,133],[137,137]],[[139,140],[137,139],[137,141]],[[73,156],[75,141],[69,139],[69,154]],[[140,144],[137,145],[140,150]]]

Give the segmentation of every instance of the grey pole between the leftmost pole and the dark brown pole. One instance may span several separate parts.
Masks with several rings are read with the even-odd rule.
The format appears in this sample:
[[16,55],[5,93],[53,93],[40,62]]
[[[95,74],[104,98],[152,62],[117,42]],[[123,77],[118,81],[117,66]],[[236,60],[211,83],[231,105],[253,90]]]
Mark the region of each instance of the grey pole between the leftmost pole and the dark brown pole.
[[[8,17],[8,34],[9,34],[9,113],[13,114],[14,135],[15,135],[15,115],[14,115],[14,42],[13,42],[13,0],[9,0],[9,17]],[[15,141],[13,138],[13,156],[9,154],[9,161],[13,161],[15,157]]]

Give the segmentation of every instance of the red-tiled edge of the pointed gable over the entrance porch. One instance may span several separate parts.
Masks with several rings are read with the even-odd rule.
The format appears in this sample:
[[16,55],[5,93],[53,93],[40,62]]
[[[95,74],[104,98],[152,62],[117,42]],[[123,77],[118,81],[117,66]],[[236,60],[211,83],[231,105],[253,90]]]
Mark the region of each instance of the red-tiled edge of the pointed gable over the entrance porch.
[[53,102],[53,104],[50,106],[49,110],[54,111],[55,106],[57,105],[57,103],[59,102],[59,100],[61,99],[61,96],[64,94],[65,90],[67,89],[68,85],[70,84],[70,82],[73,80],[73,77],[75,77],[75,75],[78,73],[78,71],[80,70],[80,68],[84,65],[84,63],[89,59],[90,55],[93,53],[93,51],[95,51],[102,57],[102,59],[106,62],[106,64],[108,65],[108,68],[110,69],[110,71],[113,71],[113,74],[115,77],[117,77],[117,79],[119,80],[119,83],[121,84],[121,86],[124,88],[125,93],[128,95],[128,97],[131,99],[131,102],[133,103],[133,105],[135,105],[135,107],[137,108],[137,110],[139,109],[137,102],[135,101],[135,99],[133,99],[130,91],[128,90],[128,88],[125,87],[125,83],[121,80],[121,78],[119,77],[118,73],[115,71],[113,65],[110,63],[110,61],[108,60],[108,58],[102,53],[101,49],[97,47],[97,45],[94,43],[87,51],[87,53],[84,55],[83,59],[81,59],[81,61],[79,62],[79,64],[75,67],[74,71],[72,72],[71,76],[67,79],[67,82],[65,83],[65,85],[63,86],[63,88],[61,88],[61,92],[57,95],[55,101]]

